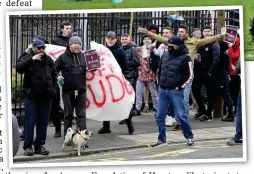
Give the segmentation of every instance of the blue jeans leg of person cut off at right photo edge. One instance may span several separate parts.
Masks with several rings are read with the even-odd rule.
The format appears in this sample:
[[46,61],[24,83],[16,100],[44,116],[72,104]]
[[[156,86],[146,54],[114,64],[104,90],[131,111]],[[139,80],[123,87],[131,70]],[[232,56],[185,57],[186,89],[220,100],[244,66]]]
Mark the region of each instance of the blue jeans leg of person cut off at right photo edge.
[[239,141],[242,139],[242,97],[241,90],[239,91],[239,96],[237,100],[237,116],[236,116],[236,134],[234,141]]

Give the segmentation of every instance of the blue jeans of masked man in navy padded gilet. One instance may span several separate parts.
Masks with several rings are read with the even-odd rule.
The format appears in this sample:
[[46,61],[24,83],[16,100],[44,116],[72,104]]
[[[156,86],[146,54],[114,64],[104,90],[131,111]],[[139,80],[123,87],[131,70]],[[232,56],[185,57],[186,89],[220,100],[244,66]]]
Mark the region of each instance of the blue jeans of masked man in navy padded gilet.
[[184,106],[184,91],[159,88],[158,109],[156,113],[156,122],[159,128],[158,140],[164,143],[166,142],[165,117],[168,103],[170,102],[175,108],[175,116],[182,126],[184,137],[186,139],[193,138],[189,118]]

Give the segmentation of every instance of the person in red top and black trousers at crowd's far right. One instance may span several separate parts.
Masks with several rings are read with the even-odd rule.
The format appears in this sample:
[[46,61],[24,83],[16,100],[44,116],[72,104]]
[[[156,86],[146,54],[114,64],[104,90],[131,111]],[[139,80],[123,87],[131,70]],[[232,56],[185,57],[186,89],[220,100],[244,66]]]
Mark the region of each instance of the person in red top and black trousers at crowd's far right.
[[240,76],[234,71],[237,67],[238,59],[240,57],[240,38],[237,37],[235,44],[229,44],[228,48],[229,56],[229,73],[230,73],[230,82],[229,82],[229,91],[234,105],[234,113],[236,113],[238,93],[240,89]]

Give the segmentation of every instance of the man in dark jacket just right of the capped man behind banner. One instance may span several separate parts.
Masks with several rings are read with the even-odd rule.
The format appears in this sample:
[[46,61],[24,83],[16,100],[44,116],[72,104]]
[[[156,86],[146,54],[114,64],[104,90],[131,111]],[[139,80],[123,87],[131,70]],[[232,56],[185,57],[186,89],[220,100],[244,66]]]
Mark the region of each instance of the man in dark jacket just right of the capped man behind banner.
[[[136,91],[136,83],[137,83],[137,79],[138,79],[138,67],[140,66],[140,60],[139,60],[139,56],[138,56],[138,52],[136,47],[134,46],[133,43],[131,43],[130,41],[130,37],[128,34],[122,34],[121,35],[121,43],[122,43],[122,48],[125,51],[126,57],[128,59],[128,63],[129,63],[129,71],[130,71],[130,83],[134,89],[134,91]],[[131,110],[131,115],[135,115],[135,105],[136,103],[133,104],[132,110]],[[119,124],[125,124],[126,123],[126,119],[120,121]]]

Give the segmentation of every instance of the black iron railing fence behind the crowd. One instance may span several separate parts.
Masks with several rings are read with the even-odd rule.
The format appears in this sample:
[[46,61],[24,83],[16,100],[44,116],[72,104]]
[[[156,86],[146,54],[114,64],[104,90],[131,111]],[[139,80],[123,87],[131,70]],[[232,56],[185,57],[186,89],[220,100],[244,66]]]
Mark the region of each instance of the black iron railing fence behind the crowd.
[[[168,20],[168,11],[157,12],[134,12],[132,25],[132,38],[137,44],[142,37],[137,33],[138,26],[148,26],[156,24],[161,33],[162,28],[171,26],[174,31],[180,24],[186,24],[189,32],[193,28],[202,28],[204,25],[214,23],[214,34],[217,33],[217,11],[214,18],[211,12],[202,11],[179,11],[178,14],[184,18],[184,21],[170,23]],[[122,33],[128,33],[130,30],[131,13],[90,13],[90,14],[47,14],[47,15],[22,15],[10,16],[10,50],[11,50],[11,68],[12,68],[12,103],[13,114],[22,115],[23,97],[21,95],[22,76],[15,71],[15,65],[18,57],[31,43],[35,35],[42,35],[49,42],[59,33],[59,25],[62,21],[70,21],[73,24],[73,30],[83,39],[83,48],[89,49],[90,41],[105,44],[105,35],[108,31],[115,31],[118,37]],[[239,11],[225,11],[226,25],[239,26]]]

